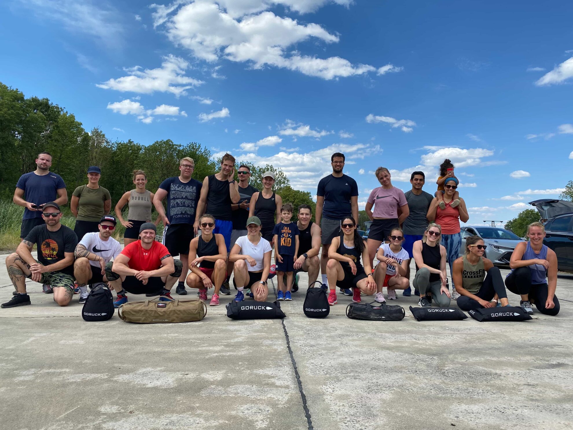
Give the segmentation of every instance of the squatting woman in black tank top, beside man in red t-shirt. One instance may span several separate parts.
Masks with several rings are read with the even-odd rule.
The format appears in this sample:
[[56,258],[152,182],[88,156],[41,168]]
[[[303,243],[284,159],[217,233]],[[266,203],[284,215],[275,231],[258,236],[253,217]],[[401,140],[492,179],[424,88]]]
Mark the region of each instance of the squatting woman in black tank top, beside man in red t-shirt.
[[227,277],[227,245],[222,234],[213,234],[215,218],[205,214],[199,218],[201,234],[189,244],[189,276],[187,286],[199,288],[199,299],[207,300],[207,289],[215,287],[209,306],[218,306],[219,290]]

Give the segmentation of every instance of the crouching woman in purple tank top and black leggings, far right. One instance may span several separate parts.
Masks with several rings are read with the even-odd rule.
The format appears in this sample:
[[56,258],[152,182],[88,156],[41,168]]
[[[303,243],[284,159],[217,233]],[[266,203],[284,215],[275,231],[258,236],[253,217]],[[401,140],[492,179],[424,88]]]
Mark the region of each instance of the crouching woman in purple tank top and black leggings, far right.
[[512,271],[505,278],[509,291],[521,295],[520,306],[533,314],[531,303],[541,314],[559,314],[557,287],[557,256],[543,244],[545,228],[541,222],[533,222],[527,228],[529,242],[520,242],[511,255]]

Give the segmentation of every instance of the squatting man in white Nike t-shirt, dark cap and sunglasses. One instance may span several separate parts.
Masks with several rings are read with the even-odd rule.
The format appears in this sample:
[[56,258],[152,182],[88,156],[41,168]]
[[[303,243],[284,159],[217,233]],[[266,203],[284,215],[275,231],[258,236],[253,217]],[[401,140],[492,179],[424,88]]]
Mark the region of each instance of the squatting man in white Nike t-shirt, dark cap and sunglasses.
[[[80,288],[80,303],[85,303],[88,298],[88,283],[108,282],[105,265],[121,252],[121,244],[111,237],[116,224],[114,216],[104,215],[97,225],[99,232],[85,233],[73,252],[76,257],[73,275]],[[111,282],[118,287],[120,285],[118,280]]]

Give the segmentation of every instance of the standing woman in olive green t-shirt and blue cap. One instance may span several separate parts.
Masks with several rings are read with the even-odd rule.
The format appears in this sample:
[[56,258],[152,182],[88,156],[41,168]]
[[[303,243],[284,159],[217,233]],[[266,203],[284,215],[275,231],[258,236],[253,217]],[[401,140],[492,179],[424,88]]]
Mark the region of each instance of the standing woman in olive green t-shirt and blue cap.
[[97,232],[101,217],[111,210],[109,191],[99,185],[101,170],[97,166],[88,167],[88,185],[80,185],[72,193],[70,210],[76,217],[74,232],[77,240],[85,233]]

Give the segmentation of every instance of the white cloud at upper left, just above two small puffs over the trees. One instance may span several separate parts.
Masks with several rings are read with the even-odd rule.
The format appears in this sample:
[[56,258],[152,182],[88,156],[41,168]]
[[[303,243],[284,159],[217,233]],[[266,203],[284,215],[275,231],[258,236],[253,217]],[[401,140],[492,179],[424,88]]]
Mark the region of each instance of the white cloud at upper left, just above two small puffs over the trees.
[[176,97],[186,95],[186,90],[203,84],[203,81],[185,76],[189,62],[172,54],[163,57],[160,68],[145,69],[135,66],[124,68],[128,76],[118,79],[109,79],[103,84],[96,84],[99,88],[115,89],[116,91],[152,94],[154,92],[170,92]]

